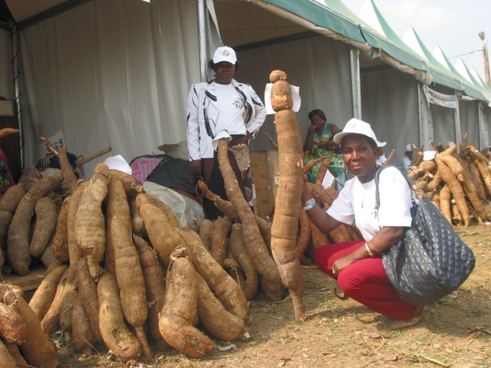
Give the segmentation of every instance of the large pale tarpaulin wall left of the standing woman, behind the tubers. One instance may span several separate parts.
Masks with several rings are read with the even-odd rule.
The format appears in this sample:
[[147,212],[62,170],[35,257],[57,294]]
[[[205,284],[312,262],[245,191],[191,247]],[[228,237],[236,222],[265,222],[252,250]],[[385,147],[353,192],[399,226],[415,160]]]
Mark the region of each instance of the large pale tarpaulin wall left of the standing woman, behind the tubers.
[[42,155],[39,137],[59,130],[69,152],[111,146],[105,157],[127,161],[185,140],[200,79],[196,19],[195,0],[104,0],[23,30],[25,167]]

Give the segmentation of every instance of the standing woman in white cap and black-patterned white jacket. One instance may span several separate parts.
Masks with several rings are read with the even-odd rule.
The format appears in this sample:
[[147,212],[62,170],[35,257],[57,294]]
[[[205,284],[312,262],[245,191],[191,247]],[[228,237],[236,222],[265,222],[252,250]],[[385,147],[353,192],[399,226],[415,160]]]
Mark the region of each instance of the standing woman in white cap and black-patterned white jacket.
[[[250,85],[234,79],[238,70],[234,49],[217,48],[208,66],[214,71],[214,78],[192,85],[188,96],[190,170],[195,177],[202,178],[212,192],[227,199],[217,152],[212,146],[214,138],[225,131],[231,136],[229,161],[238,185],[250,207],[254,207],[255,189],[248,145],[265,121],[265,106]],[[203,199],[203,209],[207,219],[223,216],[207,198]]]

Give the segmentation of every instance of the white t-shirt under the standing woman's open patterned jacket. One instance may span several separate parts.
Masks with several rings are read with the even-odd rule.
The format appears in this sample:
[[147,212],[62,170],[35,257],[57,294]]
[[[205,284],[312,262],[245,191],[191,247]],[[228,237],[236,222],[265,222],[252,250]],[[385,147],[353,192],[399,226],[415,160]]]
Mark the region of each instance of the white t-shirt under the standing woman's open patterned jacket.
[[217,92],[218,116],[215,125],[215,137],[222,130],[226,130],[230,135],[245,134],[245,124],[243,118],[244,101],[237,93],[234,85],[220,85],[214,83]]

